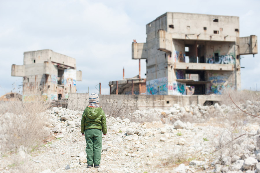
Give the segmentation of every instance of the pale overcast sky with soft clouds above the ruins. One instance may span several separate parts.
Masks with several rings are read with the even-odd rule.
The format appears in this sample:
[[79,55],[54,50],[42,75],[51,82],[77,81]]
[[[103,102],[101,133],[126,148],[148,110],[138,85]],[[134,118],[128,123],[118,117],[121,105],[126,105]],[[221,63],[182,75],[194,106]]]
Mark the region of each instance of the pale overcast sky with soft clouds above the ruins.
[[[165,12],[239,16],[240,37],[260,37],[260,1],[140,0],[0,0],[0,96],[22,84],[12,77],[12,64],[23,65],[23,52],[51,49],[77,60],[82,81],[77,92],[109,94],[108,82],[138,75],[131,44],[146,41],[146,24]],[[260,90],[259,54],[243,56],[242,89]],[[141,77],[146,64],[141,60]]]

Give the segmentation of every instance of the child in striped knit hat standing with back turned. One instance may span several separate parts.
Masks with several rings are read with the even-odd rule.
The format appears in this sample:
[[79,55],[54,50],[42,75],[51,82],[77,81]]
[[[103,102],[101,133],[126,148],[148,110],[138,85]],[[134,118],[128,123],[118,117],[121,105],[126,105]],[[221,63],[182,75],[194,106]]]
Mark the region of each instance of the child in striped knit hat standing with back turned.
[[[81,133],[86,138],[87,168],[99,168],[102,150],[102,132],[107,135],[105,112],[99,106],[99,96],[91,93],[81,118]],[[102,131],[101,131],[102,130]]]

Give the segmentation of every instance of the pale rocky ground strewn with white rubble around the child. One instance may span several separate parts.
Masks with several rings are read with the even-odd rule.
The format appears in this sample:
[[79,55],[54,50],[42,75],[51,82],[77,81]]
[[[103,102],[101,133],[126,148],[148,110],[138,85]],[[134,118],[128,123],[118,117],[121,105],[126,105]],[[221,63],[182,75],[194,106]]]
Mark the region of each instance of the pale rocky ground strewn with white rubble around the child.
[[[239,105],[258,115],[260,102]],[[174,105],[107,115],[101,168],[86,168],[82,111],[53,108],[44,144],[1,153],[0,172],[260,172],[259,121],[233,106]],[[130,121],[131,119],[131,121]]]

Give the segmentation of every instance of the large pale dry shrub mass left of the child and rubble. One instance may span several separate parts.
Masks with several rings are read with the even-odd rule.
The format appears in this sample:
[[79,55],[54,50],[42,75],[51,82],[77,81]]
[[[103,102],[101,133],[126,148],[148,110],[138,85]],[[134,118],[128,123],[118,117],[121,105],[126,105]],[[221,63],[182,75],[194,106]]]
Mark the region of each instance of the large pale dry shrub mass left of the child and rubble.
[[50,102],[44,101],[40,94],[34,94],[31,101],[2,101],[0,106],[0,148],[11,151],[23,145],[30,147],[49,136],[45,127]]

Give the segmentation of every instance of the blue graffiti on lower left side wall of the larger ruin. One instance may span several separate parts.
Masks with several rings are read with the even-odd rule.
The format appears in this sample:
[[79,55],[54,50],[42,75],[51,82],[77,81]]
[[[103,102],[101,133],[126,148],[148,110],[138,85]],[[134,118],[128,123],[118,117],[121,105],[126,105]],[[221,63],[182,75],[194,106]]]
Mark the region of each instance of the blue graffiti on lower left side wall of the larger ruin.
[[168,93],[168,78],[159,78],[146,81],[147,95],[167,95]]

